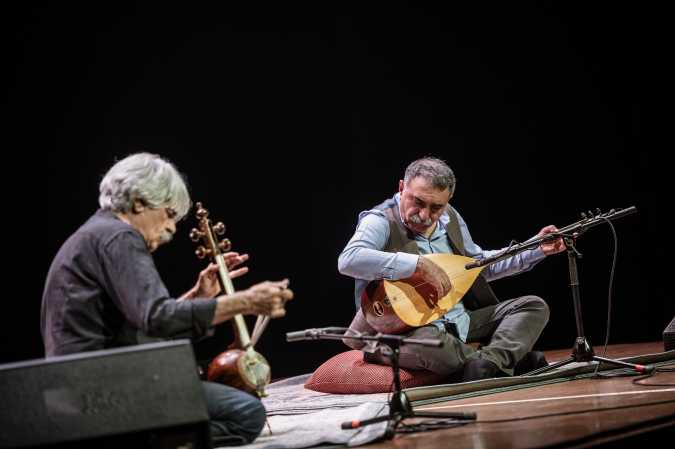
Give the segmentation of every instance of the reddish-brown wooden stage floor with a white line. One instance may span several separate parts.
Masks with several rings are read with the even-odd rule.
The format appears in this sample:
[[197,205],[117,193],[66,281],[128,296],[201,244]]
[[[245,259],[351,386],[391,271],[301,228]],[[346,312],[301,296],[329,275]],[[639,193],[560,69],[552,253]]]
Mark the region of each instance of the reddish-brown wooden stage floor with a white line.
[[[596,347],[598,355],[602,347]],[[663,351],[663,342],[608,347],[619,358]],[[549,363],[570,350],[547,351]],[[671,366],[672,367],[672,366]],[[369,449],[673,447],[675,372],[635,377],[579,379],[487,396],[426,405],[417,410],[475,412],[475,423],[370,444]],[[410,421],[410,420],[409,420]],[[667,438],[656,442],[656,439]]]

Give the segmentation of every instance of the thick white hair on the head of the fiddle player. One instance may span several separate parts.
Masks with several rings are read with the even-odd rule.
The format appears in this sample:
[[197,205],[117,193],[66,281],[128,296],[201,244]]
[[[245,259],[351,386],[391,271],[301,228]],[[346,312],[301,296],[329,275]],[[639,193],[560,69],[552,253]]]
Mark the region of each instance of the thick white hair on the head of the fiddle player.
[[148,207],[169,207],[176,220],[190,210],[190,194],[183,176],[169,161],[156,154],[136,153],[112,166],[99,186],[102,209],[129,212],[135,201]]

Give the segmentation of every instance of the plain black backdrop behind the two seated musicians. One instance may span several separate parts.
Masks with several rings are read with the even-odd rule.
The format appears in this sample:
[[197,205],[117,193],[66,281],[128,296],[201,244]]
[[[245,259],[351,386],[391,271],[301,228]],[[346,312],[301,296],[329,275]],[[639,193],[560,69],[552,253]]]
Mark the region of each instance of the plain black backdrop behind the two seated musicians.
[[[646,139],[659,43],[645,17],[659,12],[609,5],[54,4],[8,14],[8,123],[18,143],[5,169],[21,181],[6,197],[7,240],[24,257],[6,258],[0,362],[43,355],[49,264],[96,210],[101,176],[138,150],[174,162],[193,201],[251,254],[237,288],[291,279],[296,299],[258,347],[274,377],[346,349],[284,335],[349,324],[353,284],[337,257],[358,212],[394,193],[425,155],[455,171],[452,204],[486,249],[584,210],[636,206],[615,222],[610,343],[660,340],[675,311],[665,287],[669,170]],[[193,225],[190,215],[156,253],[176,295],[203,265],[187,236]],[[579,240],[586,334],[598,349],[612,244],[607,226]],[[568,283],[559,255],[492,285],[502,298],[544,297],[552,314],[537,346],[558,349],[576,336]],[[197,344],[198,357],[230,336],[221,326]]]

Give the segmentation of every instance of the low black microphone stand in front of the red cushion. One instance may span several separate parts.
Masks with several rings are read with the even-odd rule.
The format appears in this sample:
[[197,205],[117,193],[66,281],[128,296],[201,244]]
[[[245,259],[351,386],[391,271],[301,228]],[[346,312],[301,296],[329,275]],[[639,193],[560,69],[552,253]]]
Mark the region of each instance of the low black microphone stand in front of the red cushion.
[[391,369],[394,380],[394,391],[389,400],[389,413],[387,415],[376,416],[364,420],[354,420],[342,423],[343,429],[357,429],[359,427],[368,426],[382,421],[389,421],[385,438],[392,438],[396,428],[406,418],[443,418],[453,419],[455,421],[448,422],[448,425],[455,425],[457,422],[467,422],[476,419],[475,413],[461,413],[461,412],[416,412],[413,410],[408,397],[401,389],[401,376],[399,366],[400,347],[403,345],[420,345],[441,347],[443,342],[441,340],[406,338],[400,335],[381,334],[355,334],[344,335],[347,331],[346,327],[326,327],[320,329],[307,329],[305,331],[289,332],[286,334],[286,340],[289,342],[299,340],[342,340],[345,338],[351,340],[359,340],[363,342],[377,342],[384,345],[386,350],[382,353],[389,357],[391,361]]

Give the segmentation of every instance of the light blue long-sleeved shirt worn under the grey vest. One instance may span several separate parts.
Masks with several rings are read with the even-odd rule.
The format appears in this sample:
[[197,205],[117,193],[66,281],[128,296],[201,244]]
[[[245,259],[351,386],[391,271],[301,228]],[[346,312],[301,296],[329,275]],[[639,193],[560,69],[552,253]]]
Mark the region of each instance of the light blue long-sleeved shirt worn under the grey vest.
[[[394,196],[394,200],[397,206],[396,210],[400,214],[398,207],[400,202],[399,193]],[[481,249],[471,238],[464,219],[454,208],[453,211],[457,214],[459,220],[459,229],[464,239],[467,256],[482,259],[505,249]],[[429,238],[415,233],[415,242],[420,254],[453,253],[445,230],[449,221],[450,216],[447,212],[444,212],[439,219],[439,225],[436,226],[436,229]],[[384,212],[371,209],[359,214],[356,232],[338,259],[338,270],[340,273],[356,279],[355,300],[357,307],[361,304],[361,293],[370,281],[376,279],[404,279],[412,276],[417,268],[419,256],[416,254],[382,251],[388,240],[389,221]],[[544,257],[546,256],[540,248],[523,251],[508,259],[487,266],[482,274],[488,281],[494,281],[495,279],[529,271]],[[466,336],[469,332],[469,315],[466,313],[466,309],[461,302],[448,311],[443,318],[434,321],[434,324],[443,327],[444,321],[454,323],[457,326],[459,338],[462,341],[466,341]]]

